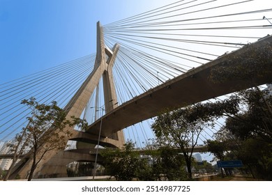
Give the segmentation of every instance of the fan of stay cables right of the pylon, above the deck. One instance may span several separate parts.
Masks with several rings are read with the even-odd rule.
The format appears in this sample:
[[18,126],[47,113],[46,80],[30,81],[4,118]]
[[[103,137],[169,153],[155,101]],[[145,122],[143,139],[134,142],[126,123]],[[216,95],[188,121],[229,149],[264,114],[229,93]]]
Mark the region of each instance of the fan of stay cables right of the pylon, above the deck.
[[[252,2],[177,1],[103,26],[106,44],[121,45],[114,64],[119,102],[266,36],[272,26],[264,15],[272,9]],[[220,127],[205,130],[200,142]],[[128,137],[140,147],[135,134]]]

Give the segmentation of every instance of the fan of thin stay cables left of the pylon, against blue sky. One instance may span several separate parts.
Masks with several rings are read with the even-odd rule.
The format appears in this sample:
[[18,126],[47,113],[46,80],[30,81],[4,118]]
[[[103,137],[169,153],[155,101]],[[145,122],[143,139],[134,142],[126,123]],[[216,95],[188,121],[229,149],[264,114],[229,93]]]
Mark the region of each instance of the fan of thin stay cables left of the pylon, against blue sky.
[[95,54],[63,63],[0,85],[0,141],[12,139],[27,123],[30,110],[21,104],[36,98],[48,104],[53,100],[64,107],[93,70]]

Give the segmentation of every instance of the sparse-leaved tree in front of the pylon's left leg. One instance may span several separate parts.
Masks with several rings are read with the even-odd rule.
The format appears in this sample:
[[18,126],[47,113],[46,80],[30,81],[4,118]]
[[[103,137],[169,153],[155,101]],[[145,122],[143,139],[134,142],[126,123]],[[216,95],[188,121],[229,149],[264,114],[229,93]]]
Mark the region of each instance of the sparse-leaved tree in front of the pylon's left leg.
[[87,127],[86,121],[80,118],[71,117],[73,121],[66,119],[66,112],[59,108],[54,101],[51,104],[39,104],[35,98],[30,98],[22,100],[22,104],[31,109],[31,116],[27,117],[29,120],[27,127],[24,127],[22,132],[15,137],[13,164],[10,166],[5,180],[8,179],[15,162],[25,150],[28,149],[31,153],[32,164],[28,178],[31,180],[45,153],[51,150],[63,150],[66,147],[67,143],[63,139],[70,136],[66,127],[74,125],[78,125],[82,129]]

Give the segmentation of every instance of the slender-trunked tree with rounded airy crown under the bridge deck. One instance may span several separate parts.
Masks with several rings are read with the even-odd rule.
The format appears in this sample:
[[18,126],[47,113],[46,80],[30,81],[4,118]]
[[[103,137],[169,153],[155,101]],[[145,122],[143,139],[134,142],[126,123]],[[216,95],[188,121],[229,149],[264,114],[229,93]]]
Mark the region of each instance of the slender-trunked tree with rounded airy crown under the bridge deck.
[[188,178],[192,178],[192,151],[197,145],[199,135],[209,124],[207,117],[200,118],[195,107],[176,109],[160,114],[152,125],[156,137],[172,148],[179,148],[186,161]]

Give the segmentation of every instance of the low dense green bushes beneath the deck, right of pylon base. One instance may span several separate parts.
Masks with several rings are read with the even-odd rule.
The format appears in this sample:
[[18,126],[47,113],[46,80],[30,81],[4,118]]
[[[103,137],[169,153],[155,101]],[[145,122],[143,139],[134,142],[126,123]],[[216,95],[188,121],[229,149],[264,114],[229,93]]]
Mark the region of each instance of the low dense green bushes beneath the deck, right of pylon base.
[[116,180],[186,180],[185,162],[177,150],[162,147],[144,154],[128,142],[123,149],[105,149],[105,171]]

